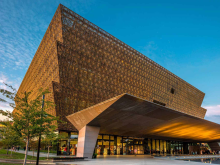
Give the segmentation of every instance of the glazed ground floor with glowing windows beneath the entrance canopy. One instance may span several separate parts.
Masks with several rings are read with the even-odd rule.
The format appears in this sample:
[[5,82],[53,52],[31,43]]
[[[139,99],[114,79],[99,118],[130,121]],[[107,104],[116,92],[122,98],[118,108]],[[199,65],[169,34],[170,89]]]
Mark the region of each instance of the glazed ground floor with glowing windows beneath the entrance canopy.
[[[76,155],[78,132],[59,132],[62,139],[58,143],[58,155]],[[161,140],[152,138],[98,135],[95,146],[97,155],[143,155],[143,154],[199,154],[199,143]],[[194,149],[190,149],[192,147]]]

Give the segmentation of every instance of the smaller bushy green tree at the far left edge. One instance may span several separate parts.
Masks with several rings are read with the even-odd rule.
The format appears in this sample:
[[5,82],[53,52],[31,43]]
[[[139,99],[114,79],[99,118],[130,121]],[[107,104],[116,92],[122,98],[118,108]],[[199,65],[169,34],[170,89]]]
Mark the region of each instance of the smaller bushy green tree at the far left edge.
[[9,147],[11,147],[12,156],[13,145],[16,146],[22,144],[22,139],[13,129],[11,121],[0,121],[0,123],[3,125],[3,127],[0,129],[2,144],[7,147],[7,154]]

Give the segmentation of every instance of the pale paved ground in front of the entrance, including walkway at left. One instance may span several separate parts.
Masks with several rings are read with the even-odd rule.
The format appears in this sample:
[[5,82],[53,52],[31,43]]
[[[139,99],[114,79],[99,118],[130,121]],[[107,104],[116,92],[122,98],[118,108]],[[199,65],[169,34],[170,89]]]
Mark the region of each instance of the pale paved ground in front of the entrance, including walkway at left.
[[[16,151],[19,153],[24,153],[24,151]],[[28,155],[32,155],[33,152],[29,151]],[[36,152],[35,152],[36,156]],[[41,157],[46,157],[46,153],[40,153]],[[167,157],[152,157],[150,155],[112,155],[112,156],[102,156],[97,159],[86,159],[85,161],[72,161],[72,162],[59,162],[52,163],[51,161],[47,162],[48,164],[56,165],[204,165],[201,162],[188,162],[183,160],[176,159],[193,159],[201,157],[220,157],[220,155],[185,155],[185,156],[167,156]],[[50,154],[50,157],[56,157],[56,154]],[[46,164],[47,164],[46,163]],[[44,164],[42,162],[42,164]]]

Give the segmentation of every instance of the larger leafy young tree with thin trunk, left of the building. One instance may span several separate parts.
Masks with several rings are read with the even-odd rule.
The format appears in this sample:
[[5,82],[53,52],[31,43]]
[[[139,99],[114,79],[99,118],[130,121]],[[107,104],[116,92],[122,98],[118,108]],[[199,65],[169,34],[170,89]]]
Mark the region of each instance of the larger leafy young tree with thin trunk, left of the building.
[[50,93],[48,90],[43,91],[40,89],[37,97],[30,99],[31,92],[25,92],[18,96],[12,86],[8,87],[12,89],[12,92],[6,89],[0,89],[0,93],[6,97],[6,99],[0,98],[0,101],[7,102],[7,99],[12,100],[12,103],[8,103],[14,108],[14,111],[12,113],[8,110],[0,110],[0,113],[7,116],[13,122],[13,130],[25,140],[26,151],[24,165],[26,165],[30,139],[39,137],[41,133],[46,135],[55,130],[56,125],[54,122],[57,121],[58,118],[46,112],[49,108],[55,106],[52,102],[44,101],[42,108],[42,96],[45,95],[46,97],[46,95]]

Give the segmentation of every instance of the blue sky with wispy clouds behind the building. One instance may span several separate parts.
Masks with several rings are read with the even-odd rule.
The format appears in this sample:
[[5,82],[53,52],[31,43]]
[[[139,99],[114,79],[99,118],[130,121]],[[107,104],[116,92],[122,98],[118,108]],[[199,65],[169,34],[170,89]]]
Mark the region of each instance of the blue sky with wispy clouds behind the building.
[[1,0],[0,87],[19,87],[59,3],[206,93],[220,123],[219,0]]

